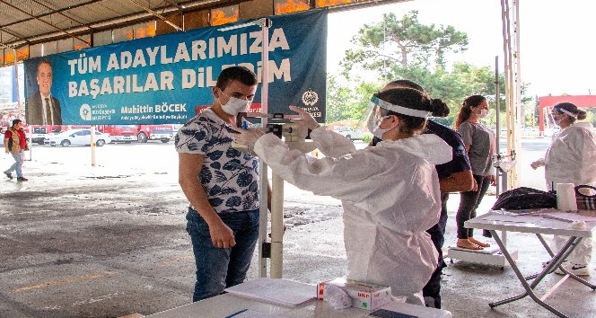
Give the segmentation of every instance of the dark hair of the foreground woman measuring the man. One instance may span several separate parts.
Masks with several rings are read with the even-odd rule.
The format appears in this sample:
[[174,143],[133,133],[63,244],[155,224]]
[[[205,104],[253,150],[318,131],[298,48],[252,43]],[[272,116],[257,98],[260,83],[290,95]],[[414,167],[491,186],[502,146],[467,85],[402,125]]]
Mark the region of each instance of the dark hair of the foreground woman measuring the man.
[[[391,88],[389,90],[377,93],[376,97],[390,102],[394,105],[399,105],[412,110],[433,111],[434,103],[441,102],[441,100],[431,100],[425,93],[407,87]],[[404,122],[404,125],[399,128],[399,132],[405,135],[416,135],[422,132],[426,127],[426,119],[422,117],[414,117],[400,114],[392,110],[386,110],[386,115],[395,115]]]

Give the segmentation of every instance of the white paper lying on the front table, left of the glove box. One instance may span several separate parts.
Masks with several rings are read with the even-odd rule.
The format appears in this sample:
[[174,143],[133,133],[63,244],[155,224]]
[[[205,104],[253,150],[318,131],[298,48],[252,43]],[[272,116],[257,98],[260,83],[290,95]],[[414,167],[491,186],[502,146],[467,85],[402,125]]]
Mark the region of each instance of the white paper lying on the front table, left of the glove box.
[[301,305],[317,296],[315,286],[275,278],[257,278],[234,287],[225,288],[225,291],[235,296],[288,307]]

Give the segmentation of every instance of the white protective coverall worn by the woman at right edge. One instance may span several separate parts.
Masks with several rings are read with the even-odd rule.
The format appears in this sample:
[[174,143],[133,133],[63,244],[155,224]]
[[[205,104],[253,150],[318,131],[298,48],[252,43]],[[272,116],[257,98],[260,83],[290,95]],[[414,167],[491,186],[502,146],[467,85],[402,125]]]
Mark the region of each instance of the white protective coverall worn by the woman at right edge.
[[[596,140],[589,129],[580,125],[571,125],[561,130],[553,138],[544,158],[545,178],[548,190],[555,183],[574,183],[574,185],[596,185]],[[555,235],[551,248],[557,252],[569,239]],[[567,261],[579,265],[588,265],[592,260],[592,239],[584,238]]]

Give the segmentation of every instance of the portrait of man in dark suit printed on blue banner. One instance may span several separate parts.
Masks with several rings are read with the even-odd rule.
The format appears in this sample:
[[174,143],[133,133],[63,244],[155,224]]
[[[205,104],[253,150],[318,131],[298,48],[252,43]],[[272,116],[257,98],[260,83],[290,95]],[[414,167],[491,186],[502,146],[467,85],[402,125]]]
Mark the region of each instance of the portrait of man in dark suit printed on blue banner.
[[[28,92],[34,90],[37,83],[38,90],[25,100],[25,118],[28,125],[62,125],[62,111],[60,102],[52,95],[53,70],[51,62],[42,58],[39,63],[30,64],[34,72],[27,72],[26,80]],[[34,77],[33,77],[34,76]],[[35,78],[35,82],[33,82]]]

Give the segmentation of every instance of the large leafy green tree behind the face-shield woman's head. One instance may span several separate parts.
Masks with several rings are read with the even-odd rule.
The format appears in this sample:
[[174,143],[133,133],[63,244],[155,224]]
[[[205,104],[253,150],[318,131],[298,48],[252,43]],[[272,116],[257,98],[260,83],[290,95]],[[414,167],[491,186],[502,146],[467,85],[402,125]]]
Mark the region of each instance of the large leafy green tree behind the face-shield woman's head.
[[[491,111],[486,123],[495,127],[495,103],[500,103],[501,127],[505,125],[504,74],[498,75],[500,92],[496,92],[493,66],[474,66],[467,62],[450,63],[446,54],[467,49],[468,35],[452,26],[425,25],[418,21],[417,11],[405,14],[400,20],[394,13],[383,15],[383,21],[365,24],[352,40],[358,49],[346,50],[341,62],[347,87],[329,81],[328,121],[361,119],[371,94],[387,82],[408,79],[422,85],[433,98],[441,99],[450,108],[447,119],[451,126],[463,100],[474,94],[486,96]],[[357,75],[373,71],[377,79],[364,83]],[[356,76],[354,76],[356,75]],[[522,87],[522,92],[525,87]],[[523,97],[522,103],[531,97]]]

